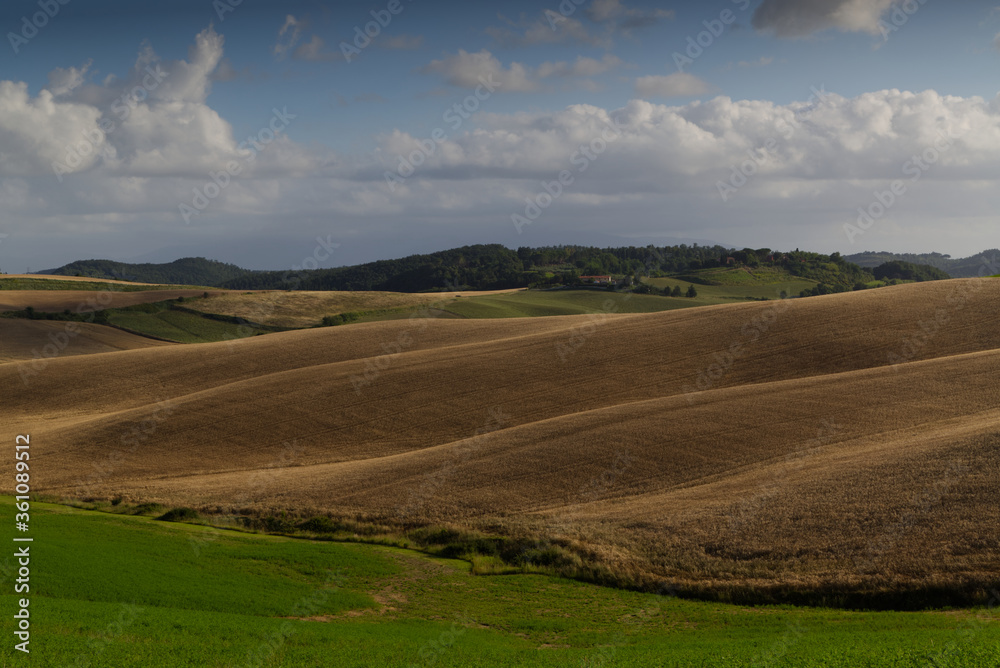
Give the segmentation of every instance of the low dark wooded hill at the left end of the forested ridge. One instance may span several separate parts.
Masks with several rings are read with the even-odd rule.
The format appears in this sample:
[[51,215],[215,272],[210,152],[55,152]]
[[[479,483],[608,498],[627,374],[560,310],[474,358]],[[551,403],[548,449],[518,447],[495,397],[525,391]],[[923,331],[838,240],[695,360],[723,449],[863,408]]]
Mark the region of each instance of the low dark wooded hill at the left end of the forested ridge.
[[206,260],[203,257],[186,257],[163,264],[79,260],[45,273],[58,276],[86,276],[117,281],[135,281],[137,283],[216,286],[253,272],[235,264]]

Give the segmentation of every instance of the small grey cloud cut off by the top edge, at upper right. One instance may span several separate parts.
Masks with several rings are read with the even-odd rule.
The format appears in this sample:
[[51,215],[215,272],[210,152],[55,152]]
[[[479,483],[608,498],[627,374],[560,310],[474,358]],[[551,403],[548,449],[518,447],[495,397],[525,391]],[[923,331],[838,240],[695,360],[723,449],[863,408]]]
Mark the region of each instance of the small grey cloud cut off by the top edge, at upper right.
[[806,37],[836,28],[879,34],[879,20],[894,0],[764,0],[753,27],[779,37]]

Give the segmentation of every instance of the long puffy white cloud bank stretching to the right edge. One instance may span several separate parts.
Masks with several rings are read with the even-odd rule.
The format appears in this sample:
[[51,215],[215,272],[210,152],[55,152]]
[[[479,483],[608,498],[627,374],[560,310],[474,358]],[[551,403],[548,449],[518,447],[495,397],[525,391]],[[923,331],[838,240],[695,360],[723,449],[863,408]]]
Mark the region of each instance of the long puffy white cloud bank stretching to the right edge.
[[[1000,97],[986,102],[885,90],[855,98],[827,94],[809,104],[718,97],[682,107],[633,100],[610,111],[574,105],[551,114],[484,114],[481,128],[441,144],[419,176],[534,183],[574,169],[571,156],[581,146],[611,136],[575,192],[700,191],[707,198],[748,153],[772,146],[749,189],[752,197],[808,199],[832,189],[842,193],[845,184],[870,197],[868,180],[882,185],[904,178],[908,160],[943,141],[951,146],[926,181],[978,182],[984,174],[1000,174],[998,103]],[[420,139],[398,131],[385,136],[384,166],[392,169],[399,156],[419,150]]]

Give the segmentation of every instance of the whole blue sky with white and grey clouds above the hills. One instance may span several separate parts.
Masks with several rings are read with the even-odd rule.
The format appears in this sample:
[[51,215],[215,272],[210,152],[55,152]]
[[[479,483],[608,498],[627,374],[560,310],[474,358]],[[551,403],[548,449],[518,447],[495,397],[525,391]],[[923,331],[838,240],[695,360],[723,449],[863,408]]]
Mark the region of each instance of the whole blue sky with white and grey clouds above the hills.
[[1000,0],[9,0],[0,31],[8,273],[1000,246]]

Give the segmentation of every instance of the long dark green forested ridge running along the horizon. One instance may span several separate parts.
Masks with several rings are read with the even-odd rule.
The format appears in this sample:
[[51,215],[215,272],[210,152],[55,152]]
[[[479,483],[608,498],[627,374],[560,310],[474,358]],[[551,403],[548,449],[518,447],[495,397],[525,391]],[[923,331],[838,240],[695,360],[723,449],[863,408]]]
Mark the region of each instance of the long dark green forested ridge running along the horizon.
[[235,290],[433,292],[573,286],[586,282],[581,277],[595,275],[610,275],[619,287],[637,286],[643,277],[677,277],[712,285],[713,270],[719,269],[769,269],[816,281],[818,285],[803,296],[864,289],[876,281],[949,277],[926,264],[891,261],[864,268],[839,253],[824,255],[770,248],[735,250],[697,244],[620,248],[544,246],[517,250],[487,244],[311,271],[251,271],[205,258],[185,258],[168,264],[85,260],[61,267],[55,273]]

